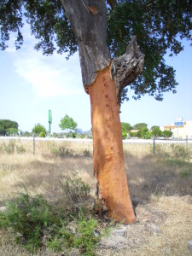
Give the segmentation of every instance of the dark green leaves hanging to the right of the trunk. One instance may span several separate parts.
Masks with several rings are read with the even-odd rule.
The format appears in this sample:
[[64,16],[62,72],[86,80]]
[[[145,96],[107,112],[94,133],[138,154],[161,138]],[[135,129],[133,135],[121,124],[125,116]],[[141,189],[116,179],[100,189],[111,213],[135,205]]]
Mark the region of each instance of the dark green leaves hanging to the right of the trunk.
[[108,9],[108,45],[113,56],[125,53],[133,35],[145,54],[143,73],[131,84],[133,98],[148,93],[161,101],[164,92],[176,92],[175,71],[166,65],[165,55],[177,55],[183,50],[181,40],[191,40],[191,18],[192,3],[185,0],[119,0],[114,9]]

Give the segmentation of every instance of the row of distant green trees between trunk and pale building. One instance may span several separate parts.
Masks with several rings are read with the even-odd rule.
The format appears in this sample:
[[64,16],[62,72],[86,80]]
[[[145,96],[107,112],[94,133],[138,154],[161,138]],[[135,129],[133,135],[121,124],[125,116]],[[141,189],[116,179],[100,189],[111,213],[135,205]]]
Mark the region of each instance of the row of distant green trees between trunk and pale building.
[[123,139],[130,137],[139,137],[150,139],[152,137],[172,137],[172,131],[160,131],[160,126],[154,125],[148,130],[148,125],[145,123],[138,123],[131,126],[129,123],[121,123]]

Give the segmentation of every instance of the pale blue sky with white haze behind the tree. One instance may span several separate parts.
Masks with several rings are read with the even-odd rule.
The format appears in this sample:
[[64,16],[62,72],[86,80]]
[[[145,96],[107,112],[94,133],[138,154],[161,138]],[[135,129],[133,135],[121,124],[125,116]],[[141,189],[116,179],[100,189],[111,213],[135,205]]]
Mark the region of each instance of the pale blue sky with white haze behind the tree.
[[[61,132],[61,118],[72,117],[83,131],[91,128],[90,97],[84,92],[79,53],[45,56],[34,49],[35,39],[28,26],[23,29],[24,44],[16,50],[14,35],[9,49],[0,50],[0,119],[14,120],[21,131],[32,131],[40,123],[51,132]],[[152,96],[131,99],[121,106],[121,122],[135,125],[170,125],[176,117],[192,119],[192,47],[184,41],[184,50],[166,57],[166,64],[176,70],[177,94],[168,92],[162,102]],[[131,96],[131,92],[128,92]]]

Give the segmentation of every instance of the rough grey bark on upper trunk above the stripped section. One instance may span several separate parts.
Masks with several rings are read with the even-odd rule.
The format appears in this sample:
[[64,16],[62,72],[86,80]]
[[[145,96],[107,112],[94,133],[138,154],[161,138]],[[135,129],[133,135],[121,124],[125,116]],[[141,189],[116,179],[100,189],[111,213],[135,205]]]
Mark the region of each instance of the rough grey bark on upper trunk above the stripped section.
[[111,61],[107,45],[107,8],[104,0],[61,0],[78,40],[84,87]]

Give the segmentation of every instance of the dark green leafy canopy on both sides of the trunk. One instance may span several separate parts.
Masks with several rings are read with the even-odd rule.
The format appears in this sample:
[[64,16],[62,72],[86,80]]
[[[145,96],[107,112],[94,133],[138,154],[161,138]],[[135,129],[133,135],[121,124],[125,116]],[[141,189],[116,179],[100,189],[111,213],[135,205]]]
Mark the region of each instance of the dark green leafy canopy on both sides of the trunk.
[[[83,0],[82,0],[83,1]],[[104,0],[103,0],[104,1]],[[192,2],[189,0],[108,0],[108,47],[111,56],[125,53],[131,38],[145,55],[143,73],[130,85],[134,98],[144,94],[163,99],[166,91],[176,92],[173,67],[166,65],[165,56],[183,50],[182,39],[192,41]],[[8,47],[10,32],[15,32],[15,47],[23,44],[21,28],[24,22],[38,39],[35,49],[44,55],[78,50],[64,9],[59,0],[0,0],[0,48]],[[122,95],[127,100],[127,88]]]

